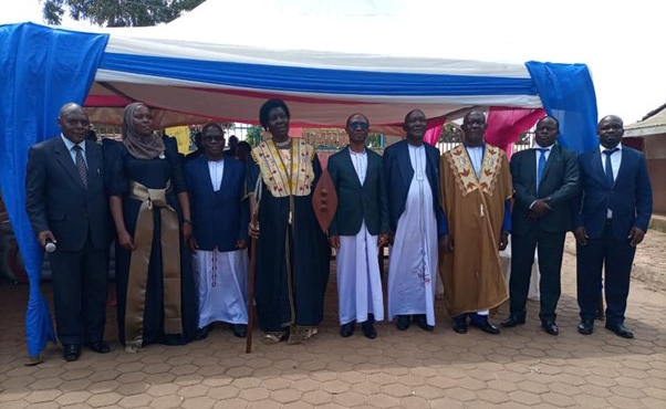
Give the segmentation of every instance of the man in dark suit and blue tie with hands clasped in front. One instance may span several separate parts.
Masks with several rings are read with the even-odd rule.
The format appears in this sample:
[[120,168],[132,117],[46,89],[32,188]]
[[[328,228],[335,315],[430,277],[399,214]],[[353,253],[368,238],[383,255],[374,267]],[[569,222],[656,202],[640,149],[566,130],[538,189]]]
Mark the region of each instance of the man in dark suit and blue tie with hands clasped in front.
[[513,181],[511,226],[510,315],[503,327],[525,322],[525,304],[534,249],[539,251],[541,326],[558,335],[555,308],[560,300],[560,273],[564,238],[571,227],[571,200],[577,193],[579,165],[575,153],[555,144],[558,119],[547,116],[537,123],[537,147],[513,155],[510,162]]

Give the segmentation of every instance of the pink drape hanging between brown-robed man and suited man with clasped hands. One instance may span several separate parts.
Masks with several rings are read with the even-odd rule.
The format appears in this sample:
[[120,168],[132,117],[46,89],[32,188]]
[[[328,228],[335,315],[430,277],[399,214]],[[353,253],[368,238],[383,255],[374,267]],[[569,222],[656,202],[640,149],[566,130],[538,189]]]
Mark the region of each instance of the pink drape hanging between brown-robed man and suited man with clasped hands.
[[503,149],[510,159],[511,145],[518,140],[521,133],[530,129],[544,115],[545,111],[542,108],[490,107],[486,141]]

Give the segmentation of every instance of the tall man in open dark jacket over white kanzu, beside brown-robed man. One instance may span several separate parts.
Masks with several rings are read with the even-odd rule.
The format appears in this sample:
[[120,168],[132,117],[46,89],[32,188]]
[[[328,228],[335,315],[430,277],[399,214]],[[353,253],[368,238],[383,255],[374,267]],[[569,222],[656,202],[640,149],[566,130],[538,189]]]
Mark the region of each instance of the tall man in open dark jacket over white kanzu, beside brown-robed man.
[[439,150],[424,144],[426,116],[420,109],[407,114],[403,128],[407,138],[384,151],[393,239],[388,319],[397,316],[400,331],[412,321],[433,331],[438,241],[448,245],[448,226],[439,201]]

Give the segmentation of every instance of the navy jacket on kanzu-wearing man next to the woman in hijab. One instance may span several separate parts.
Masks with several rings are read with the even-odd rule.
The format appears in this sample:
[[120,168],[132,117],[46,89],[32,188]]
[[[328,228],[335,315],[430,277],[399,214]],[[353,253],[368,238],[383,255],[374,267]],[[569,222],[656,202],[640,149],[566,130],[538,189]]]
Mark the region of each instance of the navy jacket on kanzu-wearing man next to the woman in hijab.
[[225,156],[220,190],[212,190],[208,159],[205,156],[185,165],[189,190],[194,237],[199,249],[237,250],[236,241],[248,240],[249,203],[244,198],[246,167]]

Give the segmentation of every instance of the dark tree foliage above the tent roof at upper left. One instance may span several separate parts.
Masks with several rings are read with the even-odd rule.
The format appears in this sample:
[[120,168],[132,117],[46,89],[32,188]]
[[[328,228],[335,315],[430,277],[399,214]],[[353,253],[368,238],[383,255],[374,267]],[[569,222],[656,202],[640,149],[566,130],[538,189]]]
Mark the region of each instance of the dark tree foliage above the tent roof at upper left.
[[65,11],[76,21],[102,27],[145,27],[166,23],[205,0],[40,0],[44,20],[61,24]]

